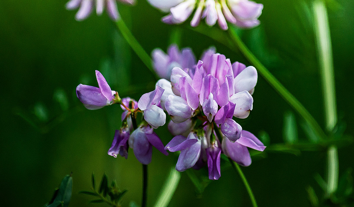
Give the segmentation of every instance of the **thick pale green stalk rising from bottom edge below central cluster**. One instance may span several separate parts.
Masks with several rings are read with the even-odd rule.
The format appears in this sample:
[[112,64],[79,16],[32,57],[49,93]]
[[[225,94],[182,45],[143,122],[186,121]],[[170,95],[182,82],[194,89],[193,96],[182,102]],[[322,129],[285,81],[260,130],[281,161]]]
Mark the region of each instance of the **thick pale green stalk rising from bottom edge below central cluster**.
[[162,186],[160,195],[156,200],[154,207],[166,207],[169,205],[172,196],[177,189],[177,185],[180,179],[181,173],[178,172],[175,168],[171,168],[169,177],[167,177],[164,186]]

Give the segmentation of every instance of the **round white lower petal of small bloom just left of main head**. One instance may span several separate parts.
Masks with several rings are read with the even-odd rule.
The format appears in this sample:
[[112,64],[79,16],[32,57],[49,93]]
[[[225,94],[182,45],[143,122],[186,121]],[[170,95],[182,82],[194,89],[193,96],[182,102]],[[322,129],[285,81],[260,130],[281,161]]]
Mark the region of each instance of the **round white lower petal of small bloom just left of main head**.
[[151,105],[150,108],[144,110],[144,119],[147,121],[154,129],[161,127],[166,122],[166,114],[162,108]]

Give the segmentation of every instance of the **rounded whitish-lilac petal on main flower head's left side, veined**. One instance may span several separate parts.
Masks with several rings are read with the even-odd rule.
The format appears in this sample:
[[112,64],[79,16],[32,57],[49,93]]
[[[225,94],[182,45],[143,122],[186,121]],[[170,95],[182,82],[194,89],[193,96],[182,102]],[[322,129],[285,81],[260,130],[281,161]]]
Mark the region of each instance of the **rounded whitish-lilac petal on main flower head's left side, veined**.
[[[165,102],[165,108],[166,108],[166,111],[171,116],[182,117],[185,119],[184,121],[186,121],[188,118],[192,117],[192,109],[188,105],[187,101],[184,100],[180,96],[176,96],[176,95],[167,96],[166,102]],[[171,119],[172,119],[172,117],[171,117]],[[179,122],[179,123],[181,123],[181,122]]]

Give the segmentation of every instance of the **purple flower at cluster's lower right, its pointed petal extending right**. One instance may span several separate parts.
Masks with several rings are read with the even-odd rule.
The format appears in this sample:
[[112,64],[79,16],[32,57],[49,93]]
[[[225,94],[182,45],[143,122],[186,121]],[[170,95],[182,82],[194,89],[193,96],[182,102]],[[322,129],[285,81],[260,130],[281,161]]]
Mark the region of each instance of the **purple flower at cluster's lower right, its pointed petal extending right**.
[[231,142],[229,139],[222,140],[223,153],[241,166],[250,166],[252,162],[247,147],[258,151],[265,149],[263,143],[255,135],[246,130],[242,130],[241,138],[235,142]]

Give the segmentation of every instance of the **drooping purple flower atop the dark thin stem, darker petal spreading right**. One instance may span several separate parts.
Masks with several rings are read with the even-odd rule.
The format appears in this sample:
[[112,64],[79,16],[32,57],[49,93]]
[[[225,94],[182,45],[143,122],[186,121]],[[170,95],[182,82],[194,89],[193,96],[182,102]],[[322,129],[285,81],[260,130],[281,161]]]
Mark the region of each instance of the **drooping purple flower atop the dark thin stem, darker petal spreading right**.
[[129,137],[129,147],[133,149],[135,157],[142,164],[151,162],[153,146],[164,155],[168,155],[164,150],[164,144],[153,130],[149,125],[142,125],[134,130]]

